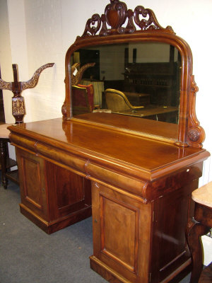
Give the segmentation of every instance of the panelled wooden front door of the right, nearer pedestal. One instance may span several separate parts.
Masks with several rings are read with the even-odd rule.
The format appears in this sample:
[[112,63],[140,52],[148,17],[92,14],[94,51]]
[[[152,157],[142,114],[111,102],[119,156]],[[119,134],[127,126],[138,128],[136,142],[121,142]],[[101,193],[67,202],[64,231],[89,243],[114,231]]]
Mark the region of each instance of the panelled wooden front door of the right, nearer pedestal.
[[119,189],[92,183],[90,265],[98,273],[104,266],[115,277],[122,275],[130,282],[148,282],[152,209],[151,204],[140,200]]

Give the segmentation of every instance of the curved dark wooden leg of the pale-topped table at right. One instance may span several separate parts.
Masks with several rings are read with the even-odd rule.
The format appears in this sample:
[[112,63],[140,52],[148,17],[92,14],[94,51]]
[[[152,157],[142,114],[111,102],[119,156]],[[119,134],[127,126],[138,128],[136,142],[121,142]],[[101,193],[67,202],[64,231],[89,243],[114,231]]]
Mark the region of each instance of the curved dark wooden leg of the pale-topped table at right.
[[209,231],[207,226],[197,222],[195,219],[189,220],[187,224],[187,243],[192,255],[192,275],[190,283],[198,283],[203,269],[202,243],[200,236]]

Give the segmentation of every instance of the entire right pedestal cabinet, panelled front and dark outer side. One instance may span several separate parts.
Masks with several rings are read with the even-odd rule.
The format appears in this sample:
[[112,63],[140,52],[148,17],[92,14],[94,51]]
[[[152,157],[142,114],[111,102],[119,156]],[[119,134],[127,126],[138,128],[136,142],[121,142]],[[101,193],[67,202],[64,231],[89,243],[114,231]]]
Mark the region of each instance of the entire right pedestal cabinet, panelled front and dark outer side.
[[188,172],[189,183],[182,172],[182,180],[174,187],[177,175],[172,175],[165,179],[170,192],[150,202],[126,190],[93,183],[90,267],[112,282],[157,283],[170,281],[188,266],[191,259],[184,231],[193,210],[190,193],[198,186],[198,179],[190,181],[194,175]]

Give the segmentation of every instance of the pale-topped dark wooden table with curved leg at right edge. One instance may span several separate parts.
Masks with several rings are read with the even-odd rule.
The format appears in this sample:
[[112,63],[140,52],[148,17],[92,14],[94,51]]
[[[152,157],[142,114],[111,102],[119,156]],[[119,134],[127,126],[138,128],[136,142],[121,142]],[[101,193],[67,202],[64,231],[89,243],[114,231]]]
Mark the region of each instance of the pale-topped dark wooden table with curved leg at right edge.
[[192,192],[195,202],[194,218],[187,225],[187,242],[192,255],[190,283],[212,282],[212,262],[204,271],[200,236],[212,228],[212,182]]

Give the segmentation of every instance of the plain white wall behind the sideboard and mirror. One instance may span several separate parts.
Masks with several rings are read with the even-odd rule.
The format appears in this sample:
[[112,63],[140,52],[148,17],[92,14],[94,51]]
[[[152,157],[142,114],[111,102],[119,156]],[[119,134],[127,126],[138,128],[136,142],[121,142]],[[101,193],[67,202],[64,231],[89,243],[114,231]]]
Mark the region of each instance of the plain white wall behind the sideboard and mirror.
[[[104,13],[109,0],[0,0],[0,64],[2,78],[13,80],[12,63],[19,67],[20,81],[27,81],[42,64],[45,69],[36,88],[24,91],[25,122],[61,117],[64,101],[64,59],[68,47],[82,35],[94,13]],[[152,8],[160,25],[171,25],[186,40],[194,56],[194,75],[199,92],[196,113],[206,131],[204,147],[212,152],[211,127],[211,0],[126,0],[128,8]],[[7,11],[8,10],[8,11]],[[204,13],[201,13],[204,11]],[[6,122],[13,122],[11,96],[4,91]],[[212,180],[206,163],[202,183]]]

